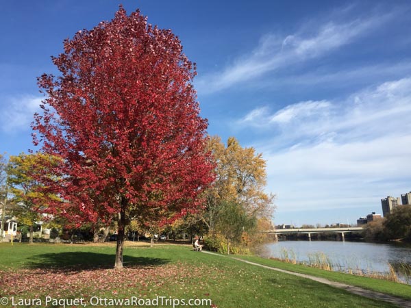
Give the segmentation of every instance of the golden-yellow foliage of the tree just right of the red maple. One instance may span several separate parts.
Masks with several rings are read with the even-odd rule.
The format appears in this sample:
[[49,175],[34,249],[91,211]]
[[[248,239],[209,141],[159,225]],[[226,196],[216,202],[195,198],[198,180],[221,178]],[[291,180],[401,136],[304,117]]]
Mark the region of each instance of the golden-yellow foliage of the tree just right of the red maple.
[[204,222],[214,231],[216,217],[225,201],[242,207],[249,216],[271,218],[274,211],[273,194],[264,192],[266,162],[252,147],[242,148],[230,137],[227,146],[219,136],[210,138],[208,148],[216,162],[216,180],[207,192]]

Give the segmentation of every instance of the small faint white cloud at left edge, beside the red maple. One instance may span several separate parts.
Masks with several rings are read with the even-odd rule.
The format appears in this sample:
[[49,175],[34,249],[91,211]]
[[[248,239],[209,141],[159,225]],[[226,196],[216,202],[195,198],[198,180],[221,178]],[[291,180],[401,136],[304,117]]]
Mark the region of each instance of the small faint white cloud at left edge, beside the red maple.
[[40,110],[41,101],[42,98],[33,95],[3,99],[0,109],[1,131],[13,132],[30,129],[34,113]]

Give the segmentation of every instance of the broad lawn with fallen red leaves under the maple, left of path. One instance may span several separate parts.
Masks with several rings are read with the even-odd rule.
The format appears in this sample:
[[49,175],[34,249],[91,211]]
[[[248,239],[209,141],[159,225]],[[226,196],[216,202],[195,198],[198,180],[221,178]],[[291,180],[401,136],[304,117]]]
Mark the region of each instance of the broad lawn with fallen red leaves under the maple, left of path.
[[190,246],[126,246],[120,271],[112,270],[114,251],[114,244],[0,244],[0,297],[164,296],[208,298],[212,307],[230,308],[393,307]]

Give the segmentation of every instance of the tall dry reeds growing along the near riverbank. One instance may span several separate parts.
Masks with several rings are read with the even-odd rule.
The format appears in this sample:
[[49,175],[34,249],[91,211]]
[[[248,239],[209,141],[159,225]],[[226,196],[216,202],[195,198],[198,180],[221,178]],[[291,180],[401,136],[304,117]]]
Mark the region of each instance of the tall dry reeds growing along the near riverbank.
[[312,268],[319,268],[321,270],[328,270],[332,272],[345,272],[347,274],[354,274],[362,277],[411,284],[411,264],[406,262],[395,262],[392,264],[388,262],[387,272],[377,272],[371,267],[363,270],[358,268],[358,266],[355,266],[355,264],[343,265],[338,262],[332,262],[331,259],[322,252],[309,253],[308,261],[298,261],[297,255],[294,251],[284,249],[280,257],[271,257],[270,259],[275,259],[290,264],[302,264]]

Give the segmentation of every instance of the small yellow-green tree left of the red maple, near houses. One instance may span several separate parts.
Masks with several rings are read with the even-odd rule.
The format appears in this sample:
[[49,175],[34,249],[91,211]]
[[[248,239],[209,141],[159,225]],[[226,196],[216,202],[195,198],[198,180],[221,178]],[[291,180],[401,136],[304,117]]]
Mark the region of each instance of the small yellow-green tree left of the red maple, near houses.
[[7,173],[10,192],[16,203],[18,220],[29,226],[29,242],[33,242],[33,231],[36,222],[41,220],[41,214],[46,211],[50,202],[60,201],[58,196],[45,192],[46,181],[53,178],[45,170],[56,164],[58,159],[42,153],[10,156]]

